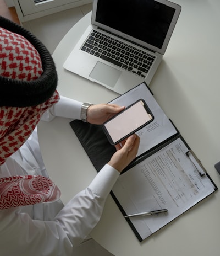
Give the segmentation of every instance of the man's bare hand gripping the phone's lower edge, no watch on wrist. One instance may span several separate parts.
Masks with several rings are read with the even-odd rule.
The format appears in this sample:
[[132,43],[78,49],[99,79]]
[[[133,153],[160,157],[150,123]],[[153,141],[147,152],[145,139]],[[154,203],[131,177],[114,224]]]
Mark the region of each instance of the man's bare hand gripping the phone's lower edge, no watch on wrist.
[[135,159],[138,154],[139,144],[140,137],[136,134],[131,135],[117,144],[117,152],[113,154],[111,160],[108,162],[109,166],[114,167],[118,172],[122,172],[122,170]]

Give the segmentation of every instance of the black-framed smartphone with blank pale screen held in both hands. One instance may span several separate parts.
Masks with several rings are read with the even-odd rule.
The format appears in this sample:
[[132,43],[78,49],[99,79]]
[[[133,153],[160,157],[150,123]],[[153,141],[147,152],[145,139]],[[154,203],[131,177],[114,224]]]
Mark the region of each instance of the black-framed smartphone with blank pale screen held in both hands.
[[140,130],[153,121],[153,115],[144,99],[131,104],[103,124],[103,130],[112,145]]

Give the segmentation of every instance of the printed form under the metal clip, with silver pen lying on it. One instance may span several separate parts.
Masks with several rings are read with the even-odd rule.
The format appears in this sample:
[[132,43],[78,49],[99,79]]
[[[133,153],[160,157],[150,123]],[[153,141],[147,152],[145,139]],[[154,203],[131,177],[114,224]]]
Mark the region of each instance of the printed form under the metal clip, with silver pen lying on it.
[[[142,239],[156,232],[216,189],[186,154],[181,138],[120,175],[112,191],[127,215],[167,209],[158,216],[131,217]],[[141,225],[140,225],[141,223]],[[148,231],[146,233],[146,230]]]

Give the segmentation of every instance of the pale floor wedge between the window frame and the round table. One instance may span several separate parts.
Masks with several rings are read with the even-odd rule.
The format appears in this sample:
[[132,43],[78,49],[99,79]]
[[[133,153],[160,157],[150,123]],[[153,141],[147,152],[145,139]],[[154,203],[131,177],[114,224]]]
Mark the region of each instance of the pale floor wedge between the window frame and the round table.
[[30,20],[23,26],[40,39],[52,54],[69,29],[91,10],[92,3]]

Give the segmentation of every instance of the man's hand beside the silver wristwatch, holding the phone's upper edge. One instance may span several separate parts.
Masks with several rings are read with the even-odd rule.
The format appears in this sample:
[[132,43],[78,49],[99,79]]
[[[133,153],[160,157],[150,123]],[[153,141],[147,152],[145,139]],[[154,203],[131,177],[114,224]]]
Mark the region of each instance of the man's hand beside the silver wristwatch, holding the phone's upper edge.
[[119,106],[117,104],[102,103],[92,105],[87,110],[87,122],[90,122],[90,124],[101,125],[124,108],[124,106]]

